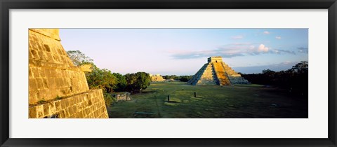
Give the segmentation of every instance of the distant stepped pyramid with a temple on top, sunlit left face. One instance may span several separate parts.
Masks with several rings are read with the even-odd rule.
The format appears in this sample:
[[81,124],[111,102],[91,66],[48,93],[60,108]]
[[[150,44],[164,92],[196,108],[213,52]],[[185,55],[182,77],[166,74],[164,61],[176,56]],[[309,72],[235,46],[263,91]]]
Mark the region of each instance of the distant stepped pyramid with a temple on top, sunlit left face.
[[187,82],[191,85],[234,85],[249,81],[223,62],[220,56],[209,57],[208,62]]

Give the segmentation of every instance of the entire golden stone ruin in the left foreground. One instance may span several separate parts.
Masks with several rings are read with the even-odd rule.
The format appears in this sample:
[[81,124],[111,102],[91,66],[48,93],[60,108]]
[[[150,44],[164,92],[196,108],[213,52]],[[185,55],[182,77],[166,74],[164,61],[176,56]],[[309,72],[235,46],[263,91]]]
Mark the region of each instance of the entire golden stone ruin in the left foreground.
[[102,90],[89,90],[58,29],[29,29],[29,118],[108,118]]

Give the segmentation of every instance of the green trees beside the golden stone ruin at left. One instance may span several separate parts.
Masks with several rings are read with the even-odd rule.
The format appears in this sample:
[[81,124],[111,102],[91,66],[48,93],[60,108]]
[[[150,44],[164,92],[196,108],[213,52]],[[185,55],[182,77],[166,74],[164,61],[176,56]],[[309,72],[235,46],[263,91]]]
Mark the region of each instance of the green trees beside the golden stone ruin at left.
[[99,88],[103,90],[105,104],[110,106],[116,99],[112,97],[112,92],[131,92],[137,93],[145,90],[150,85],[151,78],[149,73],[137,72],[127,73],[112,73],[108,69],[100,69],[93,63],[93,59],[87,57],[79,50],[67,51],[75,66],[83,64],[91,64],[91,72],[86,72],[86,80],[90,89]]

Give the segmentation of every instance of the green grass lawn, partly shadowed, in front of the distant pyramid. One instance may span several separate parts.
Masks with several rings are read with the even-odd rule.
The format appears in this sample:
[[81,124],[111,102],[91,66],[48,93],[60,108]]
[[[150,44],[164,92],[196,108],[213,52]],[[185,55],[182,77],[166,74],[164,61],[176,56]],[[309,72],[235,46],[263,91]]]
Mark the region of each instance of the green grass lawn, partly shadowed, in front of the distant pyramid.
[[108,108],[109,117],[308,118],[308,98],[263,85],[151,83],[143,93],[132,94],[131,98]]

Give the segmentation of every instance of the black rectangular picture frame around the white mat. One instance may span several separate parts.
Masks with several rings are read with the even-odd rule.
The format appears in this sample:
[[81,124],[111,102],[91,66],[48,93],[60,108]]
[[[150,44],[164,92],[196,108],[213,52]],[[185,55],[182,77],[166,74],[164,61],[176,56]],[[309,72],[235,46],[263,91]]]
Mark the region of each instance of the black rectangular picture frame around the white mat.
[[[336,0],[0,0],[1,146],[336,146]],[[18,139],[9,138],[11,9],[328,9],[329,137],[326,139]]]

